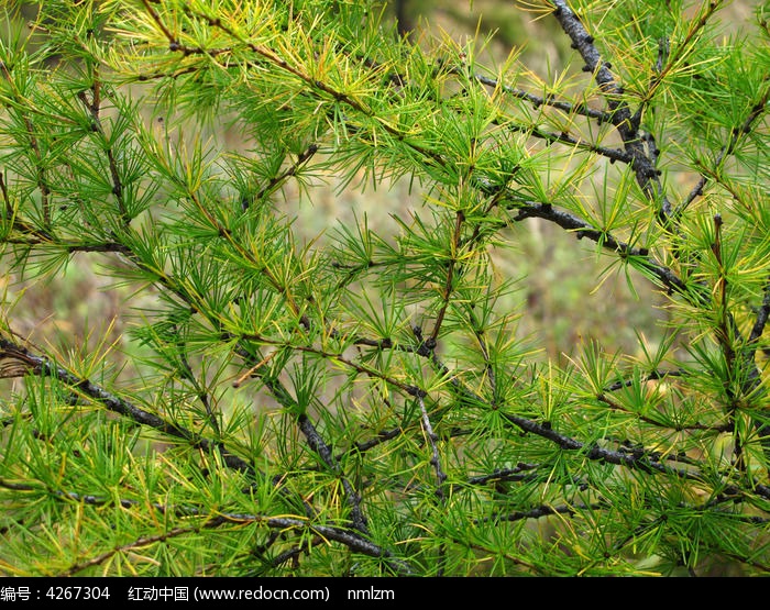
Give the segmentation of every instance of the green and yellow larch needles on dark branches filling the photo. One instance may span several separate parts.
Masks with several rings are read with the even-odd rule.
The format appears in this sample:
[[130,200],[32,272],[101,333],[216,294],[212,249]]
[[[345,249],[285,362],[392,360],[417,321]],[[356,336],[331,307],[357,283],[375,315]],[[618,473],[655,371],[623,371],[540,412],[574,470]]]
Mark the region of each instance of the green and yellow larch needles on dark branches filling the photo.
[[[41,3],[0,44],[0,572],[768,573],[770,36],[726,4],[519,3],[538,74],[372,2]],[[536,226],[654,331],[549,355]],[[125,332],[30,341],[76,262]]]

